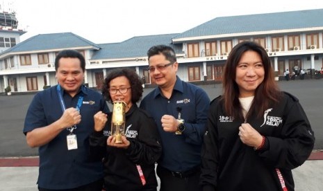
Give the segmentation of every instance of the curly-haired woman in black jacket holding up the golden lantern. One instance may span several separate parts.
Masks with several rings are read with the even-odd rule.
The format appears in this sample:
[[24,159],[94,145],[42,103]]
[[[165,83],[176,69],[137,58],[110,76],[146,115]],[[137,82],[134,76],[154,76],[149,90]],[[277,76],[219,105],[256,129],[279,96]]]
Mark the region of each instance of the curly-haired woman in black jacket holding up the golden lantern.
[[94,158],[103,158],[108,191],[155,191],[157,188],[155,163],[162,151],[160,136],[154,119],[137,107],[142,92],[140,78],[131,69],[111,71],[104,80],[102,93],[106,100],[123,101],[127,105],[122,143],[115,143],[115,137],[111,136],[112,113],[98,112],[94,116],[90,153]]

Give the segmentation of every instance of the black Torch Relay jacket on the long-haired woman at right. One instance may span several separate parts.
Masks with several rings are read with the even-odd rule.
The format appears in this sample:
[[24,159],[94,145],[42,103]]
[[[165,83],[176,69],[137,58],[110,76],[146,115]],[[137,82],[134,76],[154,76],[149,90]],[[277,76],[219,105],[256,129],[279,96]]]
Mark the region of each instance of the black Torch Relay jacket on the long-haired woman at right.
[[[226,116],[219,98],[213,100],[202,148],[201,185],[204,190],[294,190],[292,169],[303,164],[314,146],[314,134],[299,101],[283,93],[263,118],[251,113],[249,124],[265,136],[255,151],[238,136],[243,121]],[[279,180],[279,173],[283,182]]]

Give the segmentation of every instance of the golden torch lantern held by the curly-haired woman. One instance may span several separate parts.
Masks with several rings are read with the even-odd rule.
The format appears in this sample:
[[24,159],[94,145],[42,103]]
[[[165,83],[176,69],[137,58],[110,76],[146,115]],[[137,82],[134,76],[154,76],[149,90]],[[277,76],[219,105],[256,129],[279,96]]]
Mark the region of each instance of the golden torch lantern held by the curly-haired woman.
[[113,102],[111,135],[115,137],[115,143],[122,143],[121,136],[124,135],[126,125],[126,107],[128,106],[124,101]]

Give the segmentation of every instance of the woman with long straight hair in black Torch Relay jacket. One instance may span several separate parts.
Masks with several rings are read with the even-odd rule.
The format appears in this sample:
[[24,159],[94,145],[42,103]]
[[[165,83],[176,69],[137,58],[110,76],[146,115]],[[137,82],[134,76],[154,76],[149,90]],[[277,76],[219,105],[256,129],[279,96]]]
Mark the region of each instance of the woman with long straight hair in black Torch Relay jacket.
[[208,113],[203,190],[294,190],[292,169],[315,140],[299,100],[279,91],[270,58],[254,42],[232,49],[223,79],[224,93]]

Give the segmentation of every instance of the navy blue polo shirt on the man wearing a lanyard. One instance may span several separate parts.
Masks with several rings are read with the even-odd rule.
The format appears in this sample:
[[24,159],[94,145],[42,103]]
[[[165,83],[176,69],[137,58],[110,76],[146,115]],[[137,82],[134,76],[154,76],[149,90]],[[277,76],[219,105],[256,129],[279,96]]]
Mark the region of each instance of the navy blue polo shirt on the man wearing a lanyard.
[[[61,91],[65,107],[76,107],[78,98],[83,96],[81,122],[74,130],[77,137],[77,149],[67,149],[67,135],[63,131],[49,143],[39,147],[40,170],[38,186],[47,189],[68,189],[92,183],[103,178],[101,161],[91,161],[89,155],[89,136],[94,129],[94,114],[98,111],[108,113],[108,105],[103,96],[84,86],[72,98]],[[24,134],[38,127],[45,127],[63,115],[57,86],[40,91],[33,98],[24,123]]]

